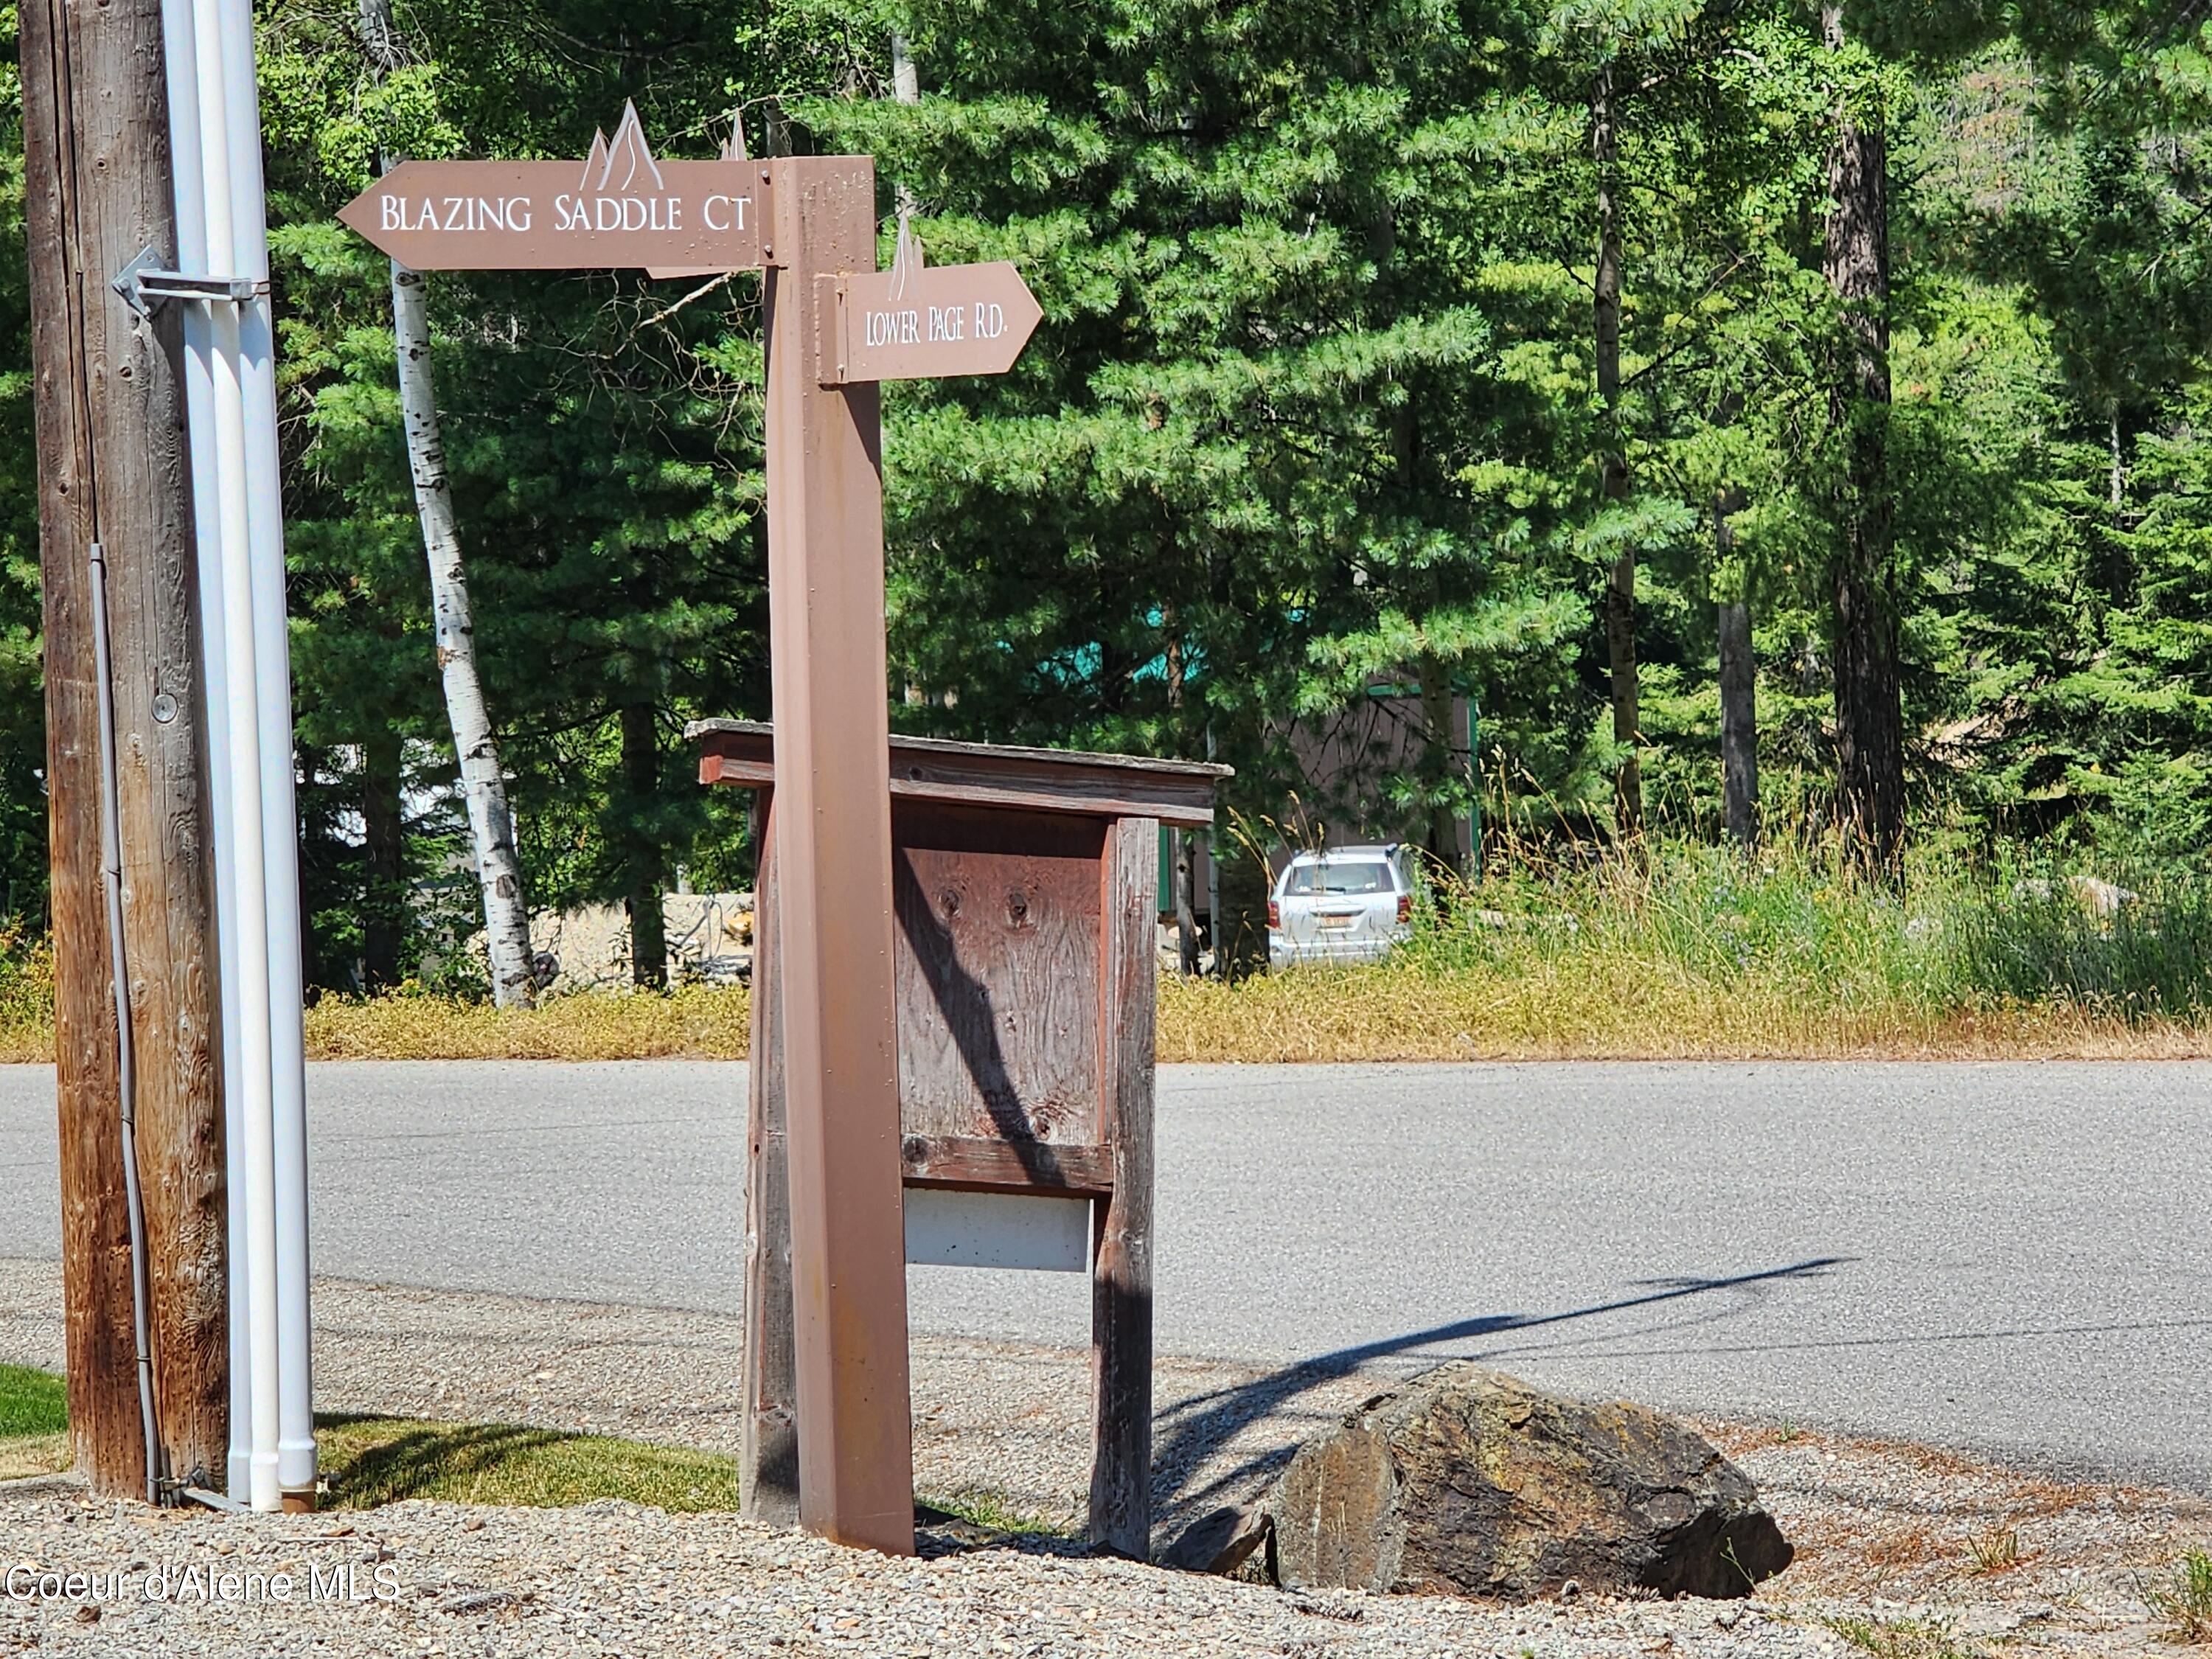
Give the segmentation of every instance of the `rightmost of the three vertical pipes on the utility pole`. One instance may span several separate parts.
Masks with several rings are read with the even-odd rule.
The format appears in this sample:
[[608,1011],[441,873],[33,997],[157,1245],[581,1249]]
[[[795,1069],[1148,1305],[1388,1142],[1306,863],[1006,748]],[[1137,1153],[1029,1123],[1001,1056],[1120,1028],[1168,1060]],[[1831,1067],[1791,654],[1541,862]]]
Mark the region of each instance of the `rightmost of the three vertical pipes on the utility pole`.
[[[252,0],[219,0],[223,126],[230,153],[232,276],[270,274],[254,86]],[[299,810],[292,783],[292,670],[285,639],[283,480],[276,458],[276,341],[270,301],[239,307],[246,511],[252,564],[261,847],[268,887],[270,1086],[276,1159],[276,1467],[285,1493],[314,1493],[307,1312],[307,1053],[299,920]]]

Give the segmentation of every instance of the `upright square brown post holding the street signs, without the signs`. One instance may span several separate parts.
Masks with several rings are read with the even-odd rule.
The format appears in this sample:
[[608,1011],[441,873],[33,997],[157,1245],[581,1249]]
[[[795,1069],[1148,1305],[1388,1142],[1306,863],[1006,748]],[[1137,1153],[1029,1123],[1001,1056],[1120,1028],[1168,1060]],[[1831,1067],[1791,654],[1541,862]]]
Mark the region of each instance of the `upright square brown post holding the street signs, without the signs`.
[[768,630],[799,1517],[914,1553],[907,1241],[891,989],[883,434],[825,387],[836,276],[876,270],[876,164],[781,157],[768,272]]

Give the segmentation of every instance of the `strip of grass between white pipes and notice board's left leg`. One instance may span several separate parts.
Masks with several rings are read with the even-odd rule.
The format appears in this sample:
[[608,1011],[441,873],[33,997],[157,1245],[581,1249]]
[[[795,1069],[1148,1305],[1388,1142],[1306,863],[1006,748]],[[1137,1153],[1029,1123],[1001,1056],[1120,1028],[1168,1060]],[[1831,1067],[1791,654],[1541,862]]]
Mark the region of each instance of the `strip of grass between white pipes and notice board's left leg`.
[[409,1498],[524,1509],[624,1498],[686,1513],[737,1509],[734,1458],[641,1440],[504,1422],[323,1416],[316,1444],[332,1509]]

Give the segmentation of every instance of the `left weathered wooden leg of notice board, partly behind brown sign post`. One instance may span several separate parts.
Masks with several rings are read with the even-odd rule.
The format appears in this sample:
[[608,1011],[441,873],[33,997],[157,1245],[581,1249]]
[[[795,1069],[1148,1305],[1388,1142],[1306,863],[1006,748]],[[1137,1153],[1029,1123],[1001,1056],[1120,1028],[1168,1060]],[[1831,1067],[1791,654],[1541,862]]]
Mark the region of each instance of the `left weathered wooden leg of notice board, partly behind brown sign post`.
[[750,1157],[745,1161],[745,1420],[739,1513],[799,1524],[799,1378],[792,1356],[792,1188],[783,1126],[783,1011],[776,960],[774,792],[759,799],[752,900]]

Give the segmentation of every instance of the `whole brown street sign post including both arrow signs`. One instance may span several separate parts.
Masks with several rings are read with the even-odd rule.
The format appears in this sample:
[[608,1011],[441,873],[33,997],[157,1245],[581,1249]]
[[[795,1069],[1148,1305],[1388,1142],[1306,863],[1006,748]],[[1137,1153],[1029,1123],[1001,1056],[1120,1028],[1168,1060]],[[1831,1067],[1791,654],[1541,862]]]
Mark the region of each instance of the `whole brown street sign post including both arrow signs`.
[[[958,332],[940,323],[942,336],[872,347],[867,305],[898,312],[909,299],[876,272],[872,157],[659,161],[628,108],[584,164],[411,161],[341,219],[418,270],[768,270],[799,1520],[843,1544],[911,1555],[876,380],[1000,374],[1037,325],[1037,305],[1013,265],[925,272],[916,257],[891,274],[914,285],[916,310],[960,307]],[[856,305],[860,347],[825,352],[825,334],[847,338],[841,316]]]

